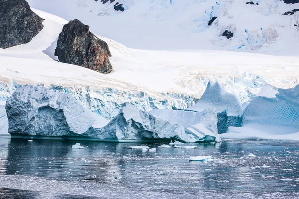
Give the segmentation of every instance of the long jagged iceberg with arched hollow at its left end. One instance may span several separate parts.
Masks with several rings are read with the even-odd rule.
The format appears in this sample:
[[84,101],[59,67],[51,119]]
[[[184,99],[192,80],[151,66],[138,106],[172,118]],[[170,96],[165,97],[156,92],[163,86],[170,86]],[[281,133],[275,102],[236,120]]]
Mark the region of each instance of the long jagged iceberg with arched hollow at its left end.
[[[108,121],[84,107],[72,95],[40,86],[26,85],[16,89],[7,100],[6,111],[12,138],[220,141],[217,115],[211,110],[192,113],[197,115],[197,122],[185,128],[187,124],[168,121],[169,118],[154,116],[125,103],[119,114]],[[183,119],[187,122],[187,117]]]

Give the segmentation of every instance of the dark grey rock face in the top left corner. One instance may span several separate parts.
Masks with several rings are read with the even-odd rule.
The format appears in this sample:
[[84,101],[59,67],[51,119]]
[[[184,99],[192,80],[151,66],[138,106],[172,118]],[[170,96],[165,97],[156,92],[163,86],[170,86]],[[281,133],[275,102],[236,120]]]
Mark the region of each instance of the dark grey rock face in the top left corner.
[[42,30],[43,20],[25,0],[0,0],[0,48],[30,42]]

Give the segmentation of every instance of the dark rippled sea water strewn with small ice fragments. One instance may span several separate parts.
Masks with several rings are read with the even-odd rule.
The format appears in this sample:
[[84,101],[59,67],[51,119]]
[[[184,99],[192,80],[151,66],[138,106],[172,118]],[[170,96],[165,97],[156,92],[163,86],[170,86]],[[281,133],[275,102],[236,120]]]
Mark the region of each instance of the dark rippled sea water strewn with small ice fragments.
[[[75,143],[0,136],[0,199],[299,198],[295,141],[190,144],[196,149],[83,141],[85,149],[72,149]],[[124,148],[138,145],[156,153]],[[198,155],[214,161],[189,162]]]

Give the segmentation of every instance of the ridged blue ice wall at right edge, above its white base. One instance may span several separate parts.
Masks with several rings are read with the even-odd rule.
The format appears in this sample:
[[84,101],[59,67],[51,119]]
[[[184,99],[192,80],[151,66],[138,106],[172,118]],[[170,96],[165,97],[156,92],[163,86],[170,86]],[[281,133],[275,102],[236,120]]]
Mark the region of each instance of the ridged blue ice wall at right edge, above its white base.
[[299,131],[299,85],[278,89],[275,98],[255,97],[242,114],[242,127],[273,135]]

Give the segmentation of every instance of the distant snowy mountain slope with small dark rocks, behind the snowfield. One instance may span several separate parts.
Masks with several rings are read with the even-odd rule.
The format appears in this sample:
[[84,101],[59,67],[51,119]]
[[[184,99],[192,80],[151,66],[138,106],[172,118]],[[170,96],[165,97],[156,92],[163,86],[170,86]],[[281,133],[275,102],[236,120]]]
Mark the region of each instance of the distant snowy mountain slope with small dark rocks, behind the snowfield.
[[78,18],[130,48],[299,54],[296,0],[27,1],[66,20]]

